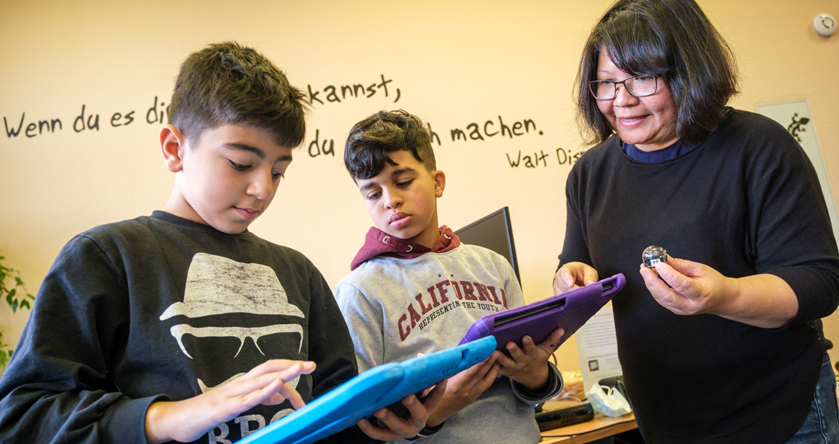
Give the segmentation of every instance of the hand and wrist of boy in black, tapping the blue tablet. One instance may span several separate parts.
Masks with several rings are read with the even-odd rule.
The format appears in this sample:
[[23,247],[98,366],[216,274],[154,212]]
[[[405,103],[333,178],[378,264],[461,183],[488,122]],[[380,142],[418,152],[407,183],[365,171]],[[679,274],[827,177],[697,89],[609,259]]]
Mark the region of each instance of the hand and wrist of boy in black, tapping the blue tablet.
[[289,400],[300,409],[305,403],[288,381],[314,370],[315,363],[310,361],[272,359],[201,395],[154,402],[146,412],[146,436],[150,442],[195,441],[259,404],[277,405]]

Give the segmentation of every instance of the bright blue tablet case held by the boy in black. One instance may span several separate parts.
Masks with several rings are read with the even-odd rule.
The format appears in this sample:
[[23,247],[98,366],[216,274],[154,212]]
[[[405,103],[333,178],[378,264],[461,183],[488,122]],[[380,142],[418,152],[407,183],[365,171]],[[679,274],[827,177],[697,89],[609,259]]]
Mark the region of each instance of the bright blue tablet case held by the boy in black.
[[490,336],[400,363],[379,365],[237,444],[306,444],[323,439],[482,362],[494,349],[495,338]]

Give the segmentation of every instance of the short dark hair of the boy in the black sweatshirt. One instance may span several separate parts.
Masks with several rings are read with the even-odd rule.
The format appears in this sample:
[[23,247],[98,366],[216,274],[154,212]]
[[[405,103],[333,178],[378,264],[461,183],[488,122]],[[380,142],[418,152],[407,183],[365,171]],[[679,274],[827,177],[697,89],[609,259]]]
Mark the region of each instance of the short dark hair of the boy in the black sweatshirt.
[[305,138],[306,111],[305,93],[267,57],[222,42],[190,54],[180,66],[169,124],[192,146],[205,130],[234,124],[270,132],[282,147],[297,147]]

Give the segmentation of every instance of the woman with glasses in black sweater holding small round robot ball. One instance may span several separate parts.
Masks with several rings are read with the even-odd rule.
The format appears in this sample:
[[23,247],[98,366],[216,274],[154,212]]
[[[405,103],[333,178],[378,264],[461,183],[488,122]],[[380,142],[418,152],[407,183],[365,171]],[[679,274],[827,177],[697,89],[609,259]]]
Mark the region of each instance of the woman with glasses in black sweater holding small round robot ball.
[[[618,355],[647,442],[839,442],[825,200],[783,127],[726,106],[735,65],[692,0],[621,0],[597,23],[576,80],[596,146],[566,184],[555,292],[627,277]],[[649,245],[670,256],[637,271]]]

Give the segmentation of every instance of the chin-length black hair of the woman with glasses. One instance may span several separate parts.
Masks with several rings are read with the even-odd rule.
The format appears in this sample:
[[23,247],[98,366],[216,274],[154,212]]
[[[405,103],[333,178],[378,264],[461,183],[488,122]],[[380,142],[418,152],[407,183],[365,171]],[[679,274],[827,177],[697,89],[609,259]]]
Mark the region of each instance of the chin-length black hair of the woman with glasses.
[[717,128],[739,92],[732,49],[696,2],[619,0],[591,31],[577,71],[577,121],[591,145],[612,135],[588,89],[604,50],[629,75],[664,75],[676,104],[676,135],[688,146]]

